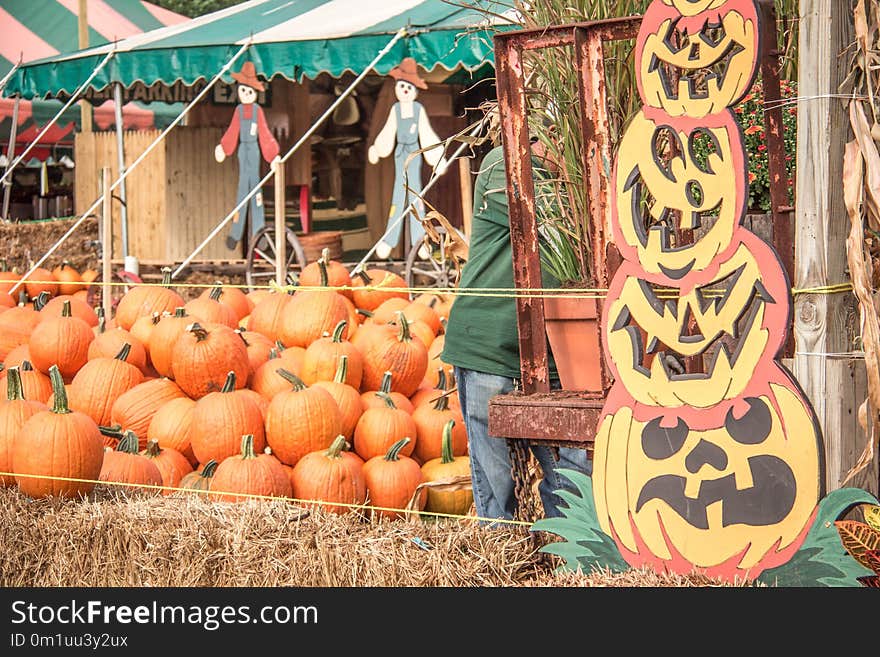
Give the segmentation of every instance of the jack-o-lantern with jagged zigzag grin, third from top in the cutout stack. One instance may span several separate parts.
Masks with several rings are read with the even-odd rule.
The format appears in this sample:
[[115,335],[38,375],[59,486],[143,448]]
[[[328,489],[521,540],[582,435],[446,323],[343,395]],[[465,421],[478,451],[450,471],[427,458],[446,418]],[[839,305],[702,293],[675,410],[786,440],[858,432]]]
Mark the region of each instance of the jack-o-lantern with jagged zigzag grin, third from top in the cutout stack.
[[637,401],[708,408],[773,367],[788,323],[788,281],[765,242],[736,235],[742,241],[716,276],[689,289],[652,285],[635,263],[617,270],[602,335],[609,370]]

